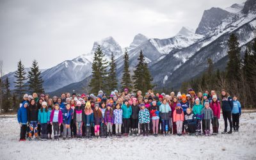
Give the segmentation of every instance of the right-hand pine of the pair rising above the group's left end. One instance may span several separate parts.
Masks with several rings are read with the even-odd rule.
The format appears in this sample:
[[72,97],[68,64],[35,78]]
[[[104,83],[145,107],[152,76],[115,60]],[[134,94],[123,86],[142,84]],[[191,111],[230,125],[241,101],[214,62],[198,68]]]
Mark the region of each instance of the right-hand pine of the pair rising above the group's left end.
[[38,62],[33,61],[31,71],[28,72],[28,86],[31,93],[44,93],[43,83],[44,80],[41,76],[41,71],[38,67]]

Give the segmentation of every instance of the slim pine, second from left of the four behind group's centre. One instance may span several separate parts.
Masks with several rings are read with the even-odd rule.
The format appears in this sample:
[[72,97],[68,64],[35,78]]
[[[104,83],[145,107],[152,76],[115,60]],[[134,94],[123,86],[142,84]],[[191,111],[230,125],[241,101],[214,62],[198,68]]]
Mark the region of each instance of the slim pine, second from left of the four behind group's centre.
[[117,88],[117,78],[116,78],[116,62],[113,52],[111,53],[111,61],[109,62],[109,72],[108,72],[108,91],[111,92]]

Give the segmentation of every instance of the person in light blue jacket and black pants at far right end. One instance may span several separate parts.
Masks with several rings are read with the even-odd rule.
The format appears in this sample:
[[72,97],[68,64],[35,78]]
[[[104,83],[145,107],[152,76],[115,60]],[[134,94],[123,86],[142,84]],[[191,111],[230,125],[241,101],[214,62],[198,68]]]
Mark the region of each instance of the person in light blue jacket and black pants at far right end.
[[232,109],[232,120],[234,132],[238,132],[239,129],[239,118],[241,116],[241,104],[237,100],[236,95],[233,97],[233,109]]

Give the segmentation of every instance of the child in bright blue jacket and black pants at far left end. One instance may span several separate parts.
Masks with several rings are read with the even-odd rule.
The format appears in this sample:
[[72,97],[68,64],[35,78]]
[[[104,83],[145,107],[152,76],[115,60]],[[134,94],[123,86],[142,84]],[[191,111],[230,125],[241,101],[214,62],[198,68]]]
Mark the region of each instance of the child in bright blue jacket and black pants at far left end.
[[20,124],[20,141],[26,141],[26,126],[28,125],[28,102],[24,101],[18,111],[18,122]]

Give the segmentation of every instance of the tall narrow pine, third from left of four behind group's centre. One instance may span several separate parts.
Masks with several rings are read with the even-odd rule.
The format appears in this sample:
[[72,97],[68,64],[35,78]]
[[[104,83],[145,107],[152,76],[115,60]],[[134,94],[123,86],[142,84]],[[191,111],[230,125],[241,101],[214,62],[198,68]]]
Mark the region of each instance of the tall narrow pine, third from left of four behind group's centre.
[[123,77],[122,77],[122,88],[128,88],[128,90],[132,90],[132,81],[131,81],[131,74],[129,71],[129,55],[127,49],[125,49],[124,52],[124,69],[122,71]]

